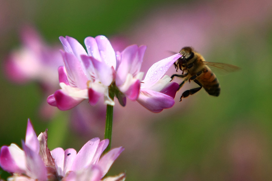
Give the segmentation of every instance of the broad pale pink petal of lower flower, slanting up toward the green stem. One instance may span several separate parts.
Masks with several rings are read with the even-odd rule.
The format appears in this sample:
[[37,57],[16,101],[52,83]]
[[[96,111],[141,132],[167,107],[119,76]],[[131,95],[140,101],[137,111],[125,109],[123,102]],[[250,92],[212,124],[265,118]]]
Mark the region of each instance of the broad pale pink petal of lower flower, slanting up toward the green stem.
[[95,161],[93,158],[95,157],[96,150],[99,149],[99,142],[99,138],[93,138],[84,144],[76,155],[71,168],[72,171],[81,170]]

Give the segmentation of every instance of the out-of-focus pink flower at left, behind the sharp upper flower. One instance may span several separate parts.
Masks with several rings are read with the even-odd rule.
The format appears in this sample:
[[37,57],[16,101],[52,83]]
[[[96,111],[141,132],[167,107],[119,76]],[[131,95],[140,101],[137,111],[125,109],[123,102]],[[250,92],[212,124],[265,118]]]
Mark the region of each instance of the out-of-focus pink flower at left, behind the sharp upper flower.
[[[60,46],[48,46],[39,33],[30,26],[25,26],[20,32],[22,45],[13,50],[4,61],[4,72],[7,77],[18,84],[36,81],[49,95],[58,86],[58,74],[55,71],[63,60],[59,52]],[[42,117],[50,117],[54,113],[52,106],[42,103]]]

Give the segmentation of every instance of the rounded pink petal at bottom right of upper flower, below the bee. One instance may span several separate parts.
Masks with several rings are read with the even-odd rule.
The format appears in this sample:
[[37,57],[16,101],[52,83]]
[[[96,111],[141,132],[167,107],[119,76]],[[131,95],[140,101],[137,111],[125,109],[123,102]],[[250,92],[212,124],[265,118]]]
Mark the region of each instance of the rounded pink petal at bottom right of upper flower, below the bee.
[[154,113],[170,108],[175,101],[171,96],[149,89],[141,89],[137,100],[142,106]]

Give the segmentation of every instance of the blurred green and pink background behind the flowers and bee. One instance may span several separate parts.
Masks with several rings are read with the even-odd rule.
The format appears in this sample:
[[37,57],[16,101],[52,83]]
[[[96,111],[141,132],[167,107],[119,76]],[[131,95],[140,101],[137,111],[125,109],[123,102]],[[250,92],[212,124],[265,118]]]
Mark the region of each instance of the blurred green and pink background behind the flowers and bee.
[[[5,64],[22,47],[25,26],[52,47],[60,46],[59,36],[83,44],[100,34],[122,46],[147,45],[142,71],[183,46],[195,47],[206,61],[241,67],[225,75],[215,70],[219,97],[201,90],[179,102],[186,85],[173,108],[157,114],[137,102],[117,102],[112,147],[125,151],[110,175],[125,171],[128,181],[272,179],[272,1],[0,0],[0,145],[21,146],[30,118],[37,134],[49,129],[50,149],[79,151],[89,139],[103,138],[105,106],[83,102],[60,112],[45,105],[54,90],[45,92],[39,80],[12,81]],[[173,66],[167,74],[174,72]]]

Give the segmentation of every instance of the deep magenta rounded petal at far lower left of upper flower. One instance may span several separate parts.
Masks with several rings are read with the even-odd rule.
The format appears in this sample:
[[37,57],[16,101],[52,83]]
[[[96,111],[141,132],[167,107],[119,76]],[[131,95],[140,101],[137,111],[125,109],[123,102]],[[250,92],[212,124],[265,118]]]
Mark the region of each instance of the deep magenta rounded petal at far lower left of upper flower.
[[55,94],[53,95],[54,95],[55,101],[53,101],[52,96],[49,96],[47,98],[47,102],[50,105],[55,104],[57,108],[59,108],[62,111],[70,110],[84,100],[83,98],[70,97],[66,95],[61,89],[57,90]]

